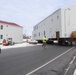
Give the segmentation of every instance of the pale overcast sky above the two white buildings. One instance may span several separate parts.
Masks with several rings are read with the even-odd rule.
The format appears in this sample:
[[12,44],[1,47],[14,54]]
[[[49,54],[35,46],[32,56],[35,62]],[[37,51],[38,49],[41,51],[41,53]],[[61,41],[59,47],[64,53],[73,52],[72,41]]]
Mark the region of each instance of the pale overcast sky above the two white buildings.
[[76,0],[0,0],[0,20],[23,26],[32,35],[33,26],[55,10],[76,3]]

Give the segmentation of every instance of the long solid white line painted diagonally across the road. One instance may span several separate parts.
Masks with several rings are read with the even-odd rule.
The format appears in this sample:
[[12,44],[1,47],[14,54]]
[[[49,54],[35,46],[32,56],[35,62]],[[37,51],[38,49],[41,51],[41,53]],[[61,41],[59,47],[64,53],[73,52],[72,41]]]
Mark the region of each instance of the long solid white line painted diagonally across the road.
[[60,54],[59,56],[57,56],[56,58],[50,60],[49,62],[45,63],[44,65],[42,65],[42,66],[40,66],[40,67],[38,67],[37,69],[35,69],[35,70],[27,73],[26,75],[31,75],[32,73],[36,72],[37,70],[39,70],[39,69],[43,68],[44,66],[48,65],[49,63],[53,62],[53,61],[56,60],[57,58],[59,58],[59,57],[61,57],[62,55],[66,54],[67,52],[71,51],[73,48],[74,48],[74,47],[68,49],[68,50],[65,51],[64,53],[62,53],[62,54]]

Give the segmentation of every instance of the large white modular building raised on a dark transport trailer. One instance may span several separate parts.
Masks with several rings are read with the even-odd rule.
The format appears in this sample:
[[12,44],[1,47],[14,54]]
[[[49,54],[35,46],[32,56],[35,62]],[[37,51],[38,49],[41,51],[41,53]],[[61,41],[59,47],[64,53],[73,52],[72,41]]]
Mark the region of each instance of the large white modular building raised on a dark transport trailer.
[[56,10],[35,25],[32,38],[34,40],[42,40],[42,37],[46,35],[48,39],[66,42],[73,31],[76,31],[76,4]]

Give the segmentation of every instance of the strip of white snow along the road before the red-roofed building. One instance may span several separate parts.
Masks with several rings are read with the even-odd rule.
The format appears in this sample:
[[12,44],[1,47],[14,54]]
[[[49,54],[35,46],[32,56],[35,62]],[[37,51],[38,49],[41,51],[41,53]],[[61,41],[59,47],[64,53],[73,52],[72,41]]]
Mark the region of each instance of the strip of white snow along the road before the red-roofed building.
[[9,46],[3,46],[0,45],[1,49],[7,49],[7,48],[17,48],[17,47],[27,47],[27,46],[37,46],[41,44],[29,44],[29,43],[20,43],[20,44],[15,44],[15,45],[9,45]]

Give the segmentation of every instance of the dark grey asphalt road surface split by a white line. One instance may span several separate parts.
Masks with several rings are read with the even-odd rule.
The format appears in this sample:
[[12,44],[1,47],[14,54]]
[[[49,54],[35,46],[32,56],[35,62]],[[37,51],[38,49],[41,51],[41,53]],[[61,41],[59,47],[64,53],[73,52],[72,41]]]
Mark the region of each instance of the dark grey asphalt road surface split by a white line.
[[46,49],[42,46],[4,49],[0,54],[0,75],[63,75],[76,52],[76,48],[34,73],[28,73],[71,48],[71,46],[48,45]]

